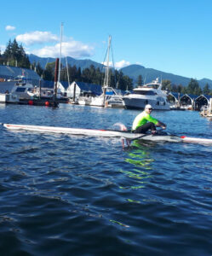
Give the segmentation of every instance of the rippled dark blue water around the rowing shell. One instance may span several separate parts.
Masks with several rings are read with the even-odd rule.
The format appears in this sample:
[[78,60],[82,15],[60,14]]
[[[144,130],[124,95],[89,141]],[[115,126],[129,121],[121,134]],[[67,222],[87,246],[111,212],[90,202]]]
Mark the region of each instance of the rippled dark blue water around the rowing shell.
[[[137,113],[0,105],[0,122],[111,129]],[[212,138],[197,112],[152,115]],[[0,131],[1,255],[212,254],[212,146]]]

